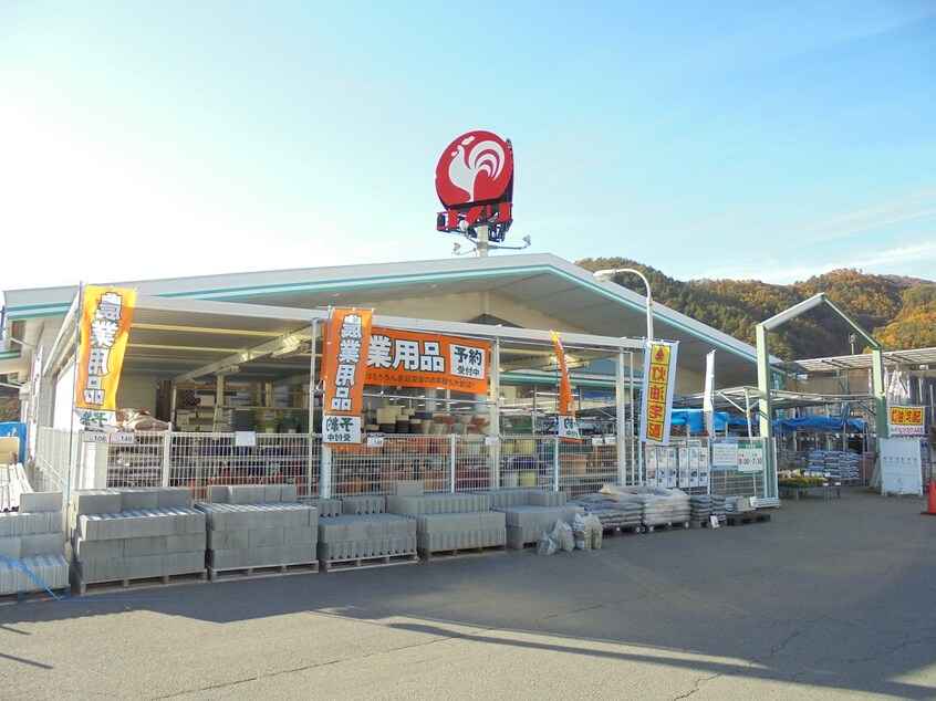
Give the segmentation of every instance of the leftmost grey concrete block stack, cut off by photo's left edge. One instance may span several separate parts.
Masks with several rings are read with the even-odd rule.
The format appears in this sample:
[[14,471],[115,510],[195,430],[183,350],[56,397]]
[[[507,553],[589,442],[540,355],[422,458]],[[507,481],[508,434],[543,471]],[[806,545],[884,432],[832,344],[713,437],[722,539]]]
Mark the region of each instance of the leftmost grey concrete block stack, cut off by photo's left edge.
[[61,492],[24,492],[0,513],[0,595],[69,586],[64,516]]

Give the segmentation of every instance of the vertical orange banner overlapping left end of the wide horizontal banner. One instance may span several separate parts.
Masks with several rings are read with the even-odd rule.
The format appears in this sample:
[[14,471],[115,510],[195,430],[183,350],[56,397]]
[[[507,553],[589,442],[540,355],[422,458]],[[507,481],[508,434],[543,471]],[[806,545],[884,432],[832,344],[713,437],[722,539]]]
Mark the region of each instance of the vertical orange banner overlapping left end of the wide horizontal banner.
[[334,310],[327,322],[323,372],[322,442],[361,443],[364,375],[371,345],[373,310]]

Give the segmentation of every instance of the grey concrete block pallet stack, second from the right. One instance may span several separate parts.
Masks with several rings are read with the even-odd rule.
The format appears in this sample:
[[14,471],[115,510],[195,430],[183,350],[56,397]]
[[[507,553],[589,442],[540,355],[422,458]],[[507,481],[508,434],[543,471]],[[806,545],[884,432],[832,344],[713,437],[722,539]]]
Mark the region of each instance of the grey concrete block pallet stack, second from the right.
[[486,494],[410,494],[387,496],[387,511],[416,520],[417,552],[434,553],[503,547],[506,520],[491,511]]

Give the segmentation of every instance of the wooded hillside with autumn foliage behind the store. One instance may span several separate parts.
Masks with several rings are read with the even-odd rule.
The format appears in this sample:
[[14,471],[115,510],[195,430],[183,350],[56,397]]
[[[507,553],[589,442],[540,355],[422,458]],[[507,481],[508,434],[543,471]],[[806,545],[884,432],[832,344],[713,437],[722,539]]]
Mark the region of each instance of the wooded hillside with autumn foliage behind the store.
[[[635,268],[649,280],[655,301],[751,345],[758,323],[824,292],[885,350],[936,346],[936,284],[927,280],[842,269],[790,285],[757,280],[684,282],[626,258],[586,258],[576,264],[591,271]],[[614,280],[645,293],[636,275],[618,273]],[[851,328],[822,305],[771,332],[770,352],[784,360],[847,355],[852,353],[850,335]],[[863,350],[857,338],[854,353]]]

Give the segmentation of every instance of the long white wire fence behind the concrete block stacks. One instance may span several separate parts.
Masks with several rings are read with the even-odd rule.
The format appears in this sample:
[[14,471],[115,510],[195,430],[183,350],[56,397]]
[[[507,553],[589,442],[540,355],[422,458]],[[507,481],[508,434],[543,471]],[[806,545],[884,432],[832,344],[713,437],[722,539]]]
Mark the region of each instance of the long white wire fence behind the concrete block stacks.
[[[34,457],[42,489],[187,486],[202,499],[212,484],[291,483],[301,498],[389,494],[397,480],[426,492],[544,488],[570,495],[605,483],[637,483],[633,439],[552,436],[385,436],[379,444],[323,449],[321,436],[136,431],[132,443],[83,442],[81,435],[40,429]],[[621,449],[621,450],[620,450]],[[70,467],[71,465],[71,467]],[[323,469],[324,468],[324,469]]]

